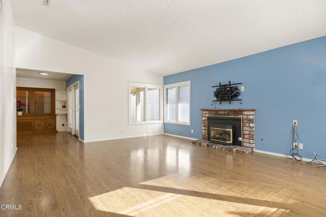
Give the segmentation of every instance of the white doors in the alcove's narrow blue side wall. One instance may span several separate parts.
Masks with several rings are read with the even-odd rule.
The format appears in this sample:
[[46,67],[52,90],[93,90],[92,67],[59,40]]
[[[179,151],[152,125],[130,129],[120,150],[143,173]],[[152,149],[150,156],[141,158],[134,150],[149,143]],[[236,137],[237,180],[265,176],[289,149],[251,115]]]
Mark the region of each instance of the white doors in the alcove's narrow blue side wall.
[[67,88],[68,91],[68,131],[79,138],[79,82]]

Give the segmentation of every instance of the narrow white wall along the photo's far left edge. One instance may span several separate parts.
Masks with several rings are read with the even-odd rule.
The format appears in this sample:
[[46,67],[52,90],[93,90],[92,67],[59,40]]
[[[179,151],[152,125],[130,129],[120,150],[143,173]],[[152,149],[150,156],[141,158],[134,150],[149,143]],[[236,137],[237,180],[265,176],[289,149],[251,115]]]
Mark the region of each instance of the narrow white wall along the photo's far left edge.
[[0,186],[16,153],[15,22],[10,0],[0,14]]

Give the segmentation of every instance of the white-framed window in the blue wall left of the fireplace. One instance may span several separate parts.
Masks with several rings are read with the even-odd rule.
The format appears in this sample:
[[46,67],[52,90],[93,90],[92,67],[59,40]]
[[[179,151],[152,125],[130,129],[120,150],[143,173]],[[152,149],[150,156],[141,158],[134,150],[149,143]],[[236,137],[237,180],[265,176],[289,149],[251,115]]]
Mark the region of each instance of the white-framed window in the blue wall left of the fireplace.
[[165,122],[190,125],[190,81],[164,86]]

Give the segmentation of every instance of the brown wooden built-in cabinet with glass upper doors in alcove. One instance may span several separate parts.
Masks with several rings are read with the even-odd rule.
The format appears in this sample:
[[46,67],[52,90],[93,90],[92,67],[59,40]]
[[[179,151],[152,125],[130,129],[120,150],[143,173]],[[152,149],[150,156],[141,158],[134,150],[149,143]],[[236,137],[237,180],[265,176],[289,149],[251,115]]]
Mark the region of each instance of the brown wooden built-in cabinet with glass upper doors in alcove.
[[17,134],[57,132],[55,89],[17,87],[17,100],[26,104],[17,116]]

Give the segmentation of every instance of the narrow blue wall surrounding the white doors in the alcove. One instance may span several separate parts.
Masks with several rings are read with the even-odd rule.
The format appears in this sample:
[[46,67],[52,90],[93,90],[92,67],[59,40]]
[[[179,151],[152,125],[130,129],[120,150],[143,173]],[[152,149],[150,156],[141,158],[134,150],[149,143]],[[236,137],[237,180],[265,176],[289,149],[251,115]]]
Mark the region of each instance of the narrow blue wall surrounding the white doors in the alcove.
[[66,81],[66,88],[79,82],[79,138],[84,139],[84,75],[73,75]]

